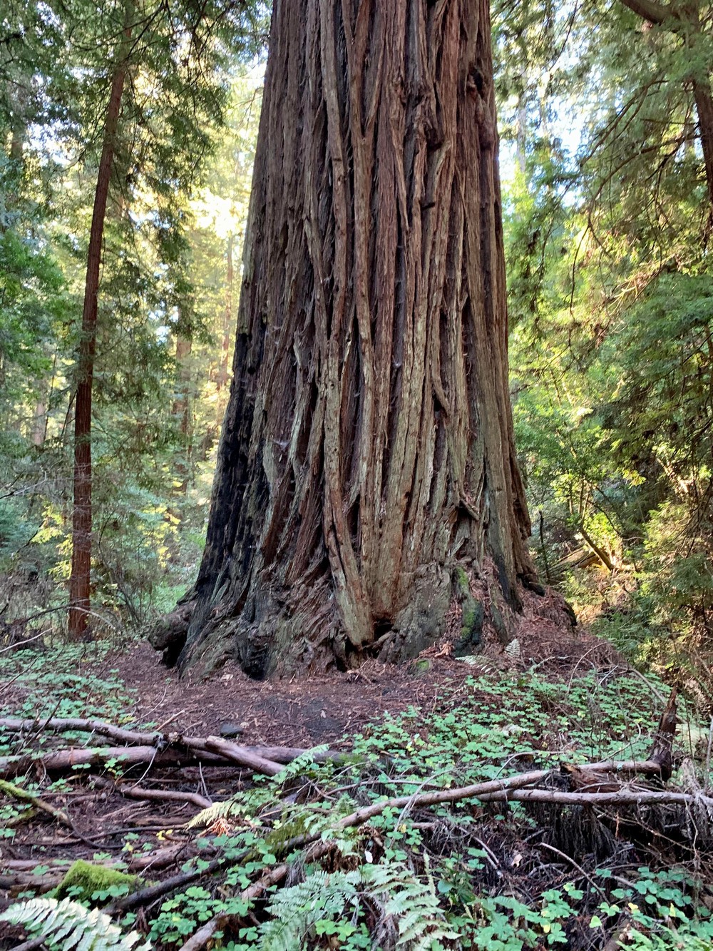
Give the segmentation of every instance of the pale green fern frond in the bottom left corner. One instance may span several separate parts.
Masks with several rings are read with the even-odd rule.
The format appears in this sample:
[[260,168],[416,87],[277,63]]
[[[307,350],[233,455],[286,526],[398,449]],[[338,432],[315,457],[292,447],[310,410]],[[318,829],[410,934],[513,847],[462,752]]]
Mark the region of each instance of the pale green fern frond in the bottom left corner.
[[88,911],[79,902],[68,898],[33,898],[29,902],[10,905],[0,915],[0,922],[22,924],[41,938],[50,948],[61,951],[150,951],[147,941],[135,931],[123,935],[121,929],[98,908]]

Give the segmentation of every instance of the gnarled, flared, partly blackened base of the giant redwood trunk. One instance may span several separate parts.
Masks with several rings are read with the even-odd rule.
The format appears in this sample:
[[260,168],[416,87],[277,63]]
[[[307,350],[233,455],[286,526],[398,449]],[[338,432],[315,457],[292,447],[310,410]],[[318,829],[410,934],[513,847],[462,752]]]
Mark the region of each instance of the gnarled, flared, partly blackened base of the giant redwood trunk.
[[[481,569],[470,564],[424,568],[414,584],[414,595],[393,624],[375,628],[375,639],[355,648],[341,631],[334,599],[324,585],[300,592],[292,613],[285,599],[265,592],[250,611],[230,616],[220,607],[202,618],[195,600],[186,600],[151,632],[154,648],[164,651],[169,667],[179,666],[209,676],[227,661],[235,661],[248,676],[324,674],[350,670],[370,657],[384,663],[403,663],[435,644],[454,656],[479,653],[486,647],[507,647],[521,631],[544,623],[563,637],[571,631],[564,600],[533,583],[518,585],[510,601],[500,586],[492,559]],[[533,596],[534,592],[537,597]],[[193,598],[193,593],[188,598]],[[292,599],[290,599],[292,600]],[[281,603],[280,603],[281,602]],[[193,616],[193,615],[196,616]],[[202,637],[186,648],[188,632],[200,626]]]

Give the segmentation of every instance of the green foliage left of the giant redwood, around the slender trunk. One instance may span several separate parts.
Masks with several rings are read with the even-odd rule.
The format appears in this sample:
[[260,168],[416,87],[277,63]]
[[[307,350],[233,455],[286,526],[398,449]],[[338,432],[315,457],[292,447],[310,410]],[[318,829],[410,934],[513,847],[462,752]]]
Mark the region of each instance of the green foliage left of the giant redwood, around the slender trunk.
[[[92,627],[103,635],[126,624],[140,629],[172,607],[201,554],[260,114],[256,54],[268,24],[260,3],[112,0],[99,10],[72,0],[11,2],[4,11],[4,620],[67,597],[69,436],[88,229],[107,64],[122,49],[130,10],[142,29],[129,51],[115,143],[93,386]],[[7,597],[3,574],[12,577]],[[62,618],[50,615],[55,630]]]

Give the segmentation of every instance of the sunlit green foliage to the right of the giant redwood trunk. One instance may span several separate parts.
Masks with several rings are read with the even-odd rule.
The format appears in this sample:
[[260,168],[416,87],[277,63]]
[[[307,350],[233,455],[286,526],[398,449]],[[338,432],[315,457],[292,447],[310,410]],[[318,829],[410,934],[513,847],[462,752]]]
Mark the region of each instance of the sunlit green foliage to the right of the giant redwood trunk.
[[495,18],[533,553],[635,662],[705,678],[710,207],[687,77],[710,73],[709,27],[648,29],[624,4]]

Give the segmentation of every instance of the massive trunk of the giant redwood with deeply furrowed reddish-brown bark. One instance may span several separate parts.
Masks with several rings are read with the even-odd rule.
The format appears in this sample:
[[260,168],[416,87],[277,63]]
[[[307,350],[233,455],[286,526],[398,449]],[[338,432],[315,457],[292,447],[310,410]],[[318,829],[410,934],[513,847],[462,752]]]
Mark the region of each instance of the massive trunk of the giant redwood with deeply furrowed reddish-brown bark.
[[518,607],[507,329],[488,0],[277,0],[182,664],[413,654],[456,563]]

